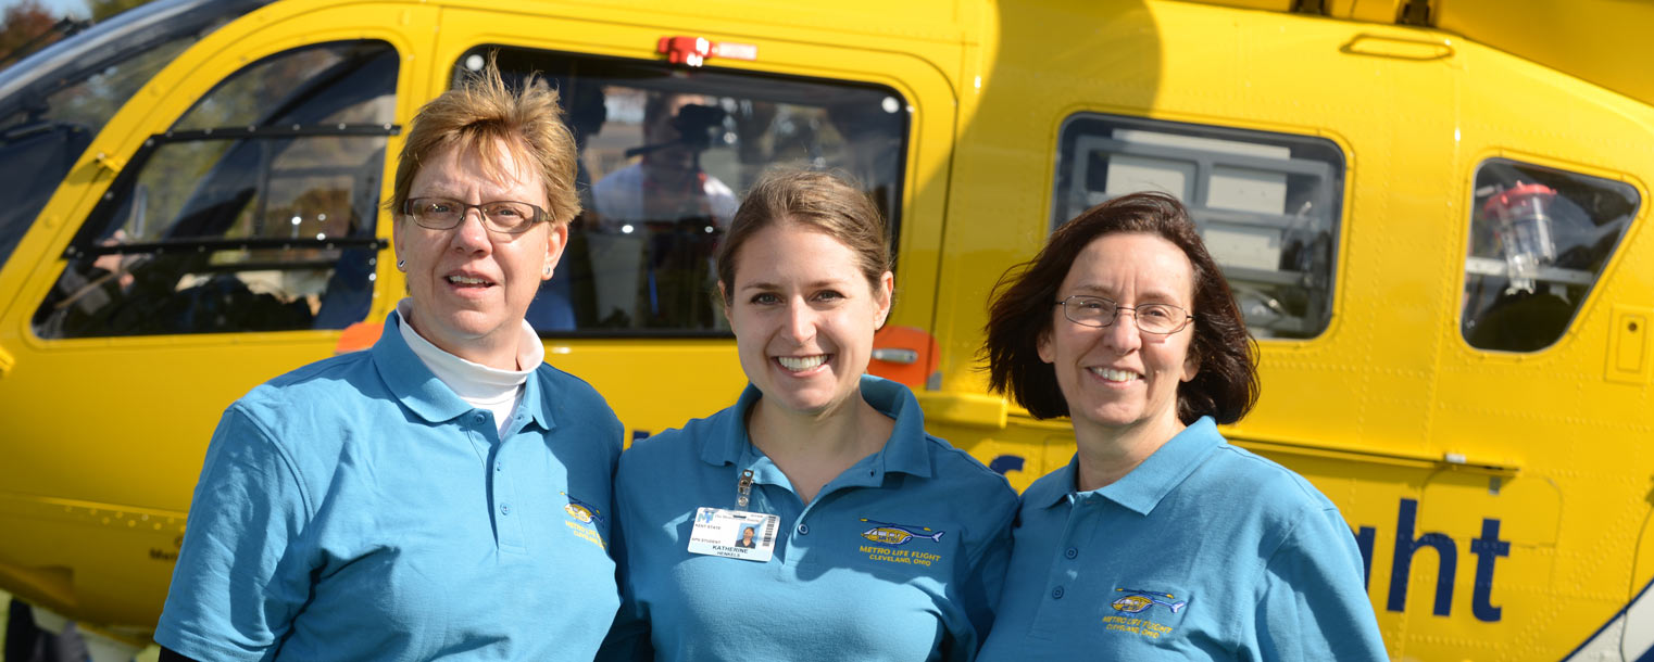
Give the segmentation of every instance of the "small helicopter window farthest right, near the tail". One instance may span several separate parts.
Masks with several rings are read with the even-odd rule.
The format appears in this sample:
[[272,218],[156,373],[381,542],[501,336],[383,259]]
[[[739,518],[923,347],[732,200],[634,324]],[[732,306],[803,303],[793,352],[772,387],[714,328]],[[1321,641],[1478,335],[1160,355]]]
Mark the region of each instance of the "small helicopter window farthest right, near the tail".
[[1538,352],[1568,330],[1641,203],[1637,190],[1505,158],[1475,172],[1464,261],[1464,340]]

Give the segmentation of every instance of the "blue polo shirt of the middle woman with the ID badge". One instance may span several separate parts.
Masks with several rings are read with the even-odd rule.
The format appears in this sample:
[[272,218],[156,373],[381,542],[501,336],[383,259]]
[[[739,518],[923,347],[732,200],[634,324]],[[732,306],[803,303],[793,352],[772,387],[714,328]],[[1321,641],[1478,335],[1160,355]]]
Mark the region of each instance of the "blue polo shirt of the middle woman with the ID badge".
[[[913,393],[862,378],[896,421],[875,452],[804,505],[746,436],[762,396],[632,444],[615,477],[625,603],[602,660],[969,660],[992,622],[1017,497],[1006,479],[925,434]],[[736,482],[754,474],[751,502]],[[767,563],[693,555],[698,507],[781,517]],[[873,523],[863,522],[872,520]],[[878,541],[877,523],[936,538]],[[900,538],[895,537],[895,538]]]

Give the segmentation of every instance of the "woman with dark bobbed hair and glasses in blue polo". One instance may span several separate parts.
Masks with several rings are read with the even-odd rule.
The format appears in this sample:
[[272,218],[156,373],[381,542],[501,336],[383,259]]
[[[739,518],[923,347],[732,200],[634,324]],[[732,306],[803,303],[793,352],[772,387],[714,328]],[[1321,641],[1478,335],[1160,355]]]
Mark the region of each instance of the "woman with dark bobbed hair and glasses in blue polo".
[[1001,279],[984,353],[1078,452],[1022,494],[981,659],[1386,659],[1338,508],[1217,433],[1257,401],[1255,345],[1176,198],[1052,233]]

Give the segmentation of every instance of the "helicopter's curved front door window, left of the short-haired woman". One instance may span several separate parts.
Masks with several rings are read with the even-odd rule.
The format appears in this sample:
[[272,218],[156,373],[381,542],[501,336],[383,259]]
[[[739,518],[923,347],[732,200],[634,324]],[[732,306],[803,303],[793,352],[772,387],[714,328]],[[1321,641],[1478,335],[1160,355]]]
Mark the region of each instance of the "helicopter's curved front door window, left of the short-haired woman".
[[342,329],[367,315],[399,56],[251,63],[151,135],[69,243],[43,338]]

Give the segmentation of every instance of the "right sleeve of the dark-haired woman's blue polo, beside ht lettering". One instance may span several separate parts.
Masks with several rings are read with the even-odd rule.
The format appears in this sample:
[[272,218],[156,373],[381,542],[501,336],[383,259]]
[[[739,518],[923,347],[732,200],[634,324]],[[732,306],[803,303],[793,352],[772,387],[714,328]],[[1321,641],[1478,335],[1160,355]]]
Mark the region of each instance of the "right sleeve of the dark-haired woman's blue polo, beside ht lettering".
[[1338,508],[1307,513],[1269,560],[1257,604],[1264,660],[1388,660],[1361,551]]

